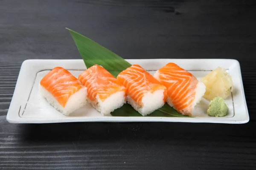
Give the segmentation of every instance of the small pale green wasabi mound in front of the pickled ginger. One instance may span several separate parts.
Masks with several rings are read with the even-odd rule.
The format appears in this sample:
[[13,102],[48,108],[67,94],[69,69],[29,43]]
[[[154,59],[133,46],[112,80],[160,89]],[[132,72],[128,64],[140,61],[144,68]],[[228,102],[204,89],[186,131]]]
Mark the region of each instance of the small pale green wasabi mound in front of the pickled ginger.
[[207,114],[209,116],[224,117],[227,115],[228,107],[224,99],[215,97],[211,100]]

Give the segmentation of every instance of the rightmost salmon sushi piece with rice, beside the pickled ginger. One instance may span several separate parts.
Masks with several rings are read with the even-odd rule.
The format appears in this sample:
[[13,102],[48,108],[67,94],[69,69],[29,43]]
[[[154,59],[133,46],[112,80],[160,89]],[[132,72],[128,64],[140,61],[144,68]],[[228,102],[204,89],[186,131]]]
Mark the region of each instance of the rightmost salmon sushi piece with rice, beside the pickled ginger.
[[194,75],[175,63],[168,63],[156,71],[154,77],[167,88],[167,103],[182,115],[192,116],[201,101],[206,86]]

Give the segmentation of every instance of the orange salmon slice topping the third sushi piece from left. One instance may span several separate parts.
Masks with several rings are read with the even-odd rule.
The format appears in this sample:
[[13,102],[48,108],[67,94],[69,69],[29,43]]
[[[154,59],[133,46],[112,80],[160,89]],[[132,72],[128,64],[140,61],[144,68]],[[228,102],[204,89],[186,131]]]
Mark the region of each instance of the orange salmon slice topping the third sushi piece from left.
[[145,71],[140,65],[132,65],[126,70],[119,73],[117,79],[127,88],[127,94],[138,105],[143,105],[142,98],[148,92],[154,93],[154,91],[163,89],[164,97],[166,100],[166,87],[155,79],[151,74]]

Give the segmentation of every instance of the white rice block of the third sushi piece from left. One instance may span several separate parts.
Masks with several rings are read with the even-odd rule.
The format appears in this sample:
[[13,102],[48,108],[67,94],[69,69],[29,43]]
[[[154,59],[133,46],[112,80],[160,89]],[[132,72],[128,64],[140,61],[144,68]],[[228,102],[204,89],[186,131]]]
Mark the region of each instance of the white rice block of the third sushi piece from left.
[[142,103],[143,105],[138,105],[130,96],[127,96],[127,102],[142,116],[147,116],[153,111],[163,107],[164,101],[164,90],[160,89],[154,91],[154,93],[148,92],[143,96]]

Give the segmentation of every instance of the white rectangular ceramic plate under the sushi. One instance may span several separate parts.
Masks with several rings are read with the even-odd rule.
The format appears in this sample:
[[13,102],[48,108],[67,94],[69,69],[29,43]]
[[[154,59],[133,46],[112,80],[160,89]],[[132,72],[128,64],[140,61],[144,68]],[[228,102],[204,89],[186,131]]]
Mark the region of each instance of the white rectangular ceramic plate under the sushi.
[[57,66],[63,67],[78,77],[86,69],[82,59],[34,59],[26,60],[20,68],[20,74],[6,116],[10,123],[57,123],[57,122],[205,122],[241,124],[249,121],[240,65],[234,59],[127,59],[131,64],[139,64],[149,73],[174,62],[186,69],[198,79],[217,67],[225,68],[233,79],[233,92],[225,99],[229,111],[225,117],[207,115],[209,101],[202,99],[192,114],[187,117],[122,117],[102,116],[90,104],[75,111],[71,116],[64,116],[55,110],[39,94],[40,80]]

